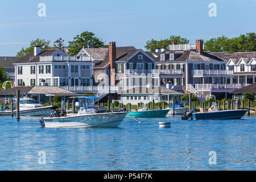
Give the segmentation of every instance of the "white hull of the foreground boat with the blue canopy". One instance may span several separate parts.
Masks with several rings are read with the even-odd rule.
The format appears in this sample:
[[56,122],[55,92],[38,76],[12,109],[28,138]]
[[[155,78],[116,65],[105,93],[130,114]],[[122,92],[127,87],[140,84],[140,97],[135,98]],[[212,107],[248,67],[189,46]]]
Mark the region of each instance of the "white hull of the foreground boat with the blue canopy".
[[118,127],[126,114],[126,112],[120,112],[72,115],[43,118],[40,122],[43,127]]

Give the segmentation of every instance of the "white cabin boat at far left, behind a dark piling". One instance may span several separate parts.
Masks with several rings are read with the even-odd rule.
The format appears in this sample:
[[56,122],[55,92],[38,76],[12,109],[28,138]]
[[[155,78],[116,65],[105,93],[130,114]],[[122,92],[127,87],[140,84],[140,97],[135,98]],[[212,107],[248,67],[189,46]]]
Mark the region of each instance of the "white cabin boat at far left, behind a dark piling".
[[[16,100],[14,100],[15,103]],[[37,104],[32,98],[20,98],[19,100],[19,115],[20,116],[47,116],[57,109],[57,106],[43,106]],[[13,111],[16,114],[16,110]],[[0,115],[11,115],[11,110],[0,111]]]

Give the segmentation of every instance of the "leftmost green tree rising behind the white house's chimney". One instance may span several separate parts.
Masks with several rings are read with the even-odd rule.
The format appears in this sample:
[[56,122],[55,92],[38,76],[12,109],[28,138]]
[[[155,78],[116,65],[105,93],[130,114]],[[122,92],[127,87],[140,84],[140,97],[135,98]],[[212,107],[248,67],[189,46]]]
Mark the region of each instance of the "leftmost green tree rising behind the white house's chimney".
[[49,44],[51,43],[50,40],[44,40],[44,39],[36,39],[36,40],[32,40],[30,42],[30,47],[27,47],[27,48],[22,48],[18,53],[16,53],[16,56],[18,57],[23,57],[23,56],[26,56],[26,54],[28,52],[31,52],[33,51],[34,47],[35,46],[41,46],[43,49],[48,49],[48,48],[51,48],[49,46]]

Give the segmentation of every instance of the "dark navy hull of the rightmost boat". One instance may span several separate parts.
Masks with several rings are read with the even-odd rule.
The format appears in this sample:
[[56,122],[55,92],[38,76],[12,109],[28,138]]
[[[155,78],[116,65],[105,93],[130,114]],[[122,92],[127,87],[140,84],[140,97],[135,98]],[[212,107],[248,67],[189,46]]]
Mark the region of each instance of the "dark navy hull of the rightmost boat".
[[221,110],[209,113],[192,113],[193,119],[210,120],[210,119],[240,119],[247,112],[246,109],[241,110]]

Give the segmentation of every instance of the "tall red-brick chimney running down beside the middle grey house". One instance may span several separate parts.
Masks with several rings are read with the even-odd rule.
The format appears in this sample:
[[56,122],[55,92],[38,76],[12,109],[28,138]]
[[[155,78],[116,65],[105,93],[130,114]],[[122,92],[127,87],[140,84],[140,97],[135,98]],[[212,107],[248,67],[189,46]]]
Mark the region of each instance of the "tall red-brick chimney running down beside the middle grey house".
[[110,65],[110,86],[115,85],[115,62],[117,57],[117,49],[115,47],[115,42],[109,43],[109,65]]

